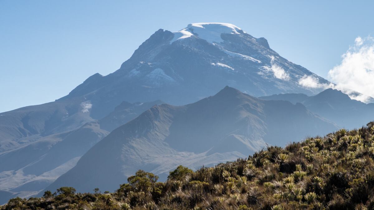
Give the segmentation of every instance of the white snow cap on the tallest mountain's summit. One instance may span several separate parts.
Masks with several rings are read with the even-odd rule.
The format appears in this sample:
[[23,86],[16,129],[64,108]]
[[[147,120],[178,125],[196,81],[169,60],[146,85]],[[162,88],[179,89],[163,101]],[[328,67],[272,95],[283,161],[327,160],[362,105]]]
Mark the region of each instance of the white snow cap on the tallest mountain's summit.
[[221,43],[223,39],[221,34],[243,34],[245,33],[242,29],[236,25],[229,23],[192,23],[188,24],[186,28],[180,31],[174,32],[174,38],[171,41],[184,39],[196,35],[210,43]]

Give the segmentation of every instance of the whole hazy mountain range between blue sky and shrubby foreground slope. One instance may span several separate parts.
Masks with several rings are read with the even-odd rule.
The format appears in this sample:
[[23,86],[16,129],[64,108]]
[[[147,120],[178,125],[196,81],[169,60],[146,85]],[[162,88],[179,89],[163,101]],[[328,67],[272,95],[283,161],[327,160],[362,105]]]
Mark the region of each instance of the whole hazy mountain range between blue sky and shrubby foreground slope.
[[[318,94],[329,84],[232,24],[160,29],[112,74],[0,113],[0,193],[117,189],[140,168],[165,177],[179,164],[197,169],[370,121],[361,109],[373,104]],[[264,95],[283,101],[255,98]],[[357,112],[339,117],[350,109]]]

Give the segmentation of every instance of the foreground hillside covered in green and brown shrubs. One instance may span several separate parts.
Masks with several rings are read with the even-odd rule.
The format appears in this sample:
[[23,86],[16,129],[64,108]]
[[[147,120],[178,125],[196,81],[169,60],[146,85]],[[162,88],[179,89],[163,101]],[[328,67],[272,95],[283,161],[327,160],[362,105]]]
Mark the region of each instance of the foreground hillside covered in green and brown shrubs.
[[13,198],[8,209],[374,209],[374,122],[235,162],[179,166],[166,182],[139,170],[113,193],[64,187],[42,198]]

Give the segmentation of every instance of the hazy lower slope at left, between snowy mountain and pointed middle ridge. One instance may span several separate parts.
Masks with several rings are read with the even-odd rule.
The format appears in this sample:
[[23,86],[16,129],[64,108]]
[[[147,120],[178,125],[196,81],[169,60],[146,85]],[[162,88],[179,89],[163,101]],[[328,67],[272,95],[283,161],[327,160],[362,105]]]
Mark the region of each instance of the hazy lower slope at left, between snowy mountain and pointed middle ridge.
[[[74,167],[79,158],[111,130],[156,104],[162,104],[162,101],[135,104],[122,102],[101,120],[52,135],[43,136],[40,132],[35,135],[38,136],[37,139],[22,142],[18,148],[0,152],[0,191],[4,194],[0,197],[9,200],[15,196],[37,194]],[[0,203],[6,200],[0,199]]]

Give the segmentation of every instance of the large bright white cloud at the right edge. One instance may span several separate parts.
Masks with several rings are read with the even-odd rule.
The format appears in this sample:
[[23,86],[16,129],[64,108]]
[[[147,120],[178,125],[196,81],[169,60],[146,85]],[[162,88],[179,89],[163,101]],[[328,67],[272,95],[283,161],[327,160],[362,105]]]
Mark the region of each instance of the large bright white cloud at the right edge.
[[342,59],[328,72],[329,80],[342,91],[350,89],[366,95],[350,94],[351,98],[365,102],[367,96],[374,97],[374,38],[357,37]]

